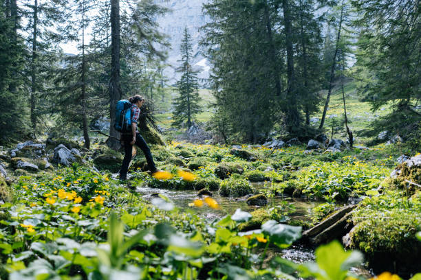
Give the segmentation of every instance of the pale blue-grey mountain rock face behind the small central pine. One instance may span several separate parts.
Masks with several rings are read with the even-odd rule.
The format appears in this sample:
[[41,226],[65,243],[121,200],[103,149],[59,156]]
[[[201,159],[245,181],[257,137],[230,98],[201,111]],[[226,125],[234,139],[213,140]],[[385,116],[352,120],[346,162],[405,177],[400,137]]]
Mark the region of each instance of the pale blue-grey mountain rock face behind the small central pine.
[[181,59],[180,45],[184,27],[187,27],[192,38],[193,69],[199,71],[199,78],[209,78],[210,64],[199,49],[199,40],[203,35],[199,31],[199,27],[210,22],[210,18],[202,12],[202,5],[207,1],[155,0],[154,2],[171,10],[171,12],[157,19],[160,31],[169,36],[169,43],[172,46],[168,53],[168,62],[171,67],[165,69],[164,75],[169,77],[171,84],[180,78],[180,73],[177,73],[174,69],[180,67],[180,62],[177,60]]

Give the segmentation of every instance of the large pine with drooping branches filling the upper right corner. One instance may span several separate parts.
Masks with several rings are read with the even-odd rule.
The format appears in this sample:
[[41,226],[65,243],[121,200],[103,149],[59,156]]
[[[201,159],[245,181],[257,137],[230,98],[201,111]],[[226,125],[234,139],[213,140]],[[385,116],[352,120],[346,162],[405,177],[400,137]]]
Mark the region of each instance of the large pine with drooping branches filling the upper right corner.
[[421,137],[421,111],[417,107],[421,99],[420,1],[352,3],[358,11],[355,24],[360,30],[358,89],[374,110],[386,104],[392,109],[390,114],[374,121],[372,132],[388,130],[404,138],[410,134]]

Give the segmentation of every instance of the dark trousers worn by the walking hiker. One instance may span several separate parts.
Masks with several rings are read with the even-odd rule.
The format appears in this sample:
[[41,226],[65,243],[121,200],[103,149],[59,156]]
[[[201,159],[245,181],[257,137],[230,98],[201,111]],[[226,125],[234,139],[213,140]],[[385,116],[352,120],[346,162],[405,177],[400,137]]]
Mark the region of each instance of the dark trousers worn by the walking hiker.
[[[130,145],[130,142],[132,140],[131,135],[122,135],[122,140],[123,145],[125,146],[125,158],[123,159],[121,165],[120,178],[125,178],[127,176],[127,170],[129,169],[129,164],[131,161],[131,148],[133,146]],[[156,167],[152,159],[151,149],[149,149],[146,141],[144,141],[142,135],[140,135],[139,132],[136,132],[135,145],[137,145],[144,153],[144,156],[147,159],[149,170],[151,170],[151,172],[154,172],[156,170]]]

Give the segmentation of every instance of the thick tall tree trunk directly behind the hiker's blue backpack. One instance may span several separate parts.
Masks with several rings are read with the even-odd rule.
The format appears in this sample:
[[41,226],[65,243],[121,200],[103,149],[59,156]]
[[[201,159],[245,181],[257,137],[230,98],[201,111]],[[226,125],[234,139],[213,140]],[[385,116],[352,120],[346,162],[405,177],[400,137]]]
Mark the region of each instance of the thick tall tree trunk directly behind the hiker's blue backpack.
[[[109,83],[109,115],[111,126],[109,126],[109,134],[120,138],[114,123],[116,121],[116,104],[121,99],[120,89],[120,1],[111,0],[111,80]],[[118,150],[120,143],[110,137],[107,141],[109,148]]]

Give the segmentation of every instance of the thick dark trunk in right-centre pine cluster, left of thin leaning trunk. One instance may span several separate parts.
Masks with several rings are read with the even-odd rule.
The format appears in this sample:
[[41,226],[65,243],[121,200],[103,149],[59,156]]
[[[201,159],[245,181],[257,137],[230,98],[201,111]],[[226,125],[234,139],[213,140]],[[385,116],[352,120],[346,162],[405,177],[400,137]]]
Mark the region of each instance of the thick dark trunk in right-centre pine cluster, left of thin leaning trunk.
[[296,82],[294,72],[294,50],[292,49],[292,24],[291,11],[288,0],[282,0],[283,5],[283,21],[285,24],[285,43],[287,50],[287,77],[288,77],[288,91],[287,97],[289,104],[286,108],[286,126],[288,132],[292,132],[294,128],[300,126],[300,116],[297,107],[296,97]]

